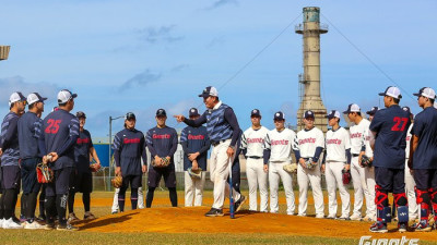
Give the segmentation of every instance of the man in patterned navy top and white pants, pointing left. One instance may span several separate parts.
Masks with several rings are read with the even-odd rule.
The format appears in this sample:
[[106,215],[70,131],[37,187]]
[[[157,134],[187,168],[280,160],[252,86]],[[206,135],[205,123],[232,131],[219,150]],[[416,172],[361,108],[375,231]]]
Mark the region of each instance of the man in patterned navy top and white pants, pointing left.
[[[210,158],[210,176],[214,182],[214,204],[208,217],[223,216],[223,203],[228,196],[229,186],[226,180],[229,175],[229,158],[236,157],[236,146],[240,134],[237,117],[234,110],[218,99],[215,87],[206,87],[199,97],[203,98],[206,111],[197,120],[186,119],[184,115],[174,115],[178,122],[185,122],[190,126],[200,126],[206,123],[206,131],[213,145]],[[235,189],[234,189],[235,191]],[[237,212],[246,197],[237,192],[232,192]]]

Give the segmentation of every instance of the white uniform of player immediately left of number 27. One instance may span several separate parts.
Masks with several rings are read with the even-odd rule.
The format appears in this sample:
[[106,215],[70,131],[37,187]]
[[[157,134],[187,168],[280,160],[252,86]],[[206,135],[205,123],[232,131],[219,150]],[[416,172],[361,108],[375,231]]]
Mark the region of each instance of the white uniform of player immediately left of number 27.
[[[353,216],[362,217],[363,197],[366,197],[367,210],[366,215],[376,218],[376,206],[375,206],[375,170],[374,168],[362,168],[358,163],[359,152],[366,148],[366,156],[373,157],[371,148],[368,144],[370,122],[367,119],[363,119],[357,125],[353,125],[350,128],[351,135],[351,175],[354,185],[354,210]],[[367,172],[367,175],[366,175]],[[371,186],[373,176],[373,186]],[[370,188],[373,195],[370,195],[369,188],[367,186],[367,180],[370,179]],[[373,212],[375,207],[375,212]],[[352,217],[351,217],[352,218]]]

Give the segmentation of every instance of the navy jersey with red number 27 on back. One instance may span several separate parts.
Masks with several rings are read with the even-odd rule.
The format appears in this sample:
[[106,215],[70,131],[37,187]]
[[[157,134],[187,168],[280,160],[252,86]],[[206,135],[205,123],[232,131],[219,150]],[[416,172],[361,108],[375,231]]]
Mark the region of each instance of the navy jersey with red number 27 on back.
[[410,113],[397,105],[375,113],[370,123],[370,131],[376,133],[374,166],[405,168],[405,137],[410,123]]

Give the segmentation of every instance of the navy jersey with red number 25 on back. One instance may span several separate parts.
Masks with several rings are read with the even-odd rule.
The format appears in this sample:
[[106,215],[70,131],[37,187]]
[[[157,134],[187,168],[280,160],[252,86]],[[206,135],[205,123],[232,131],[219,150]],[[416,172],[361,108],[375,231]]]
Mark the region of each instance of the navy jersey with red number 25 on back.
[[74,167],[74,144],[79,137],[79,120],[66,110],[57,110],[43,121],[42,154],[57,152],[54,170]]

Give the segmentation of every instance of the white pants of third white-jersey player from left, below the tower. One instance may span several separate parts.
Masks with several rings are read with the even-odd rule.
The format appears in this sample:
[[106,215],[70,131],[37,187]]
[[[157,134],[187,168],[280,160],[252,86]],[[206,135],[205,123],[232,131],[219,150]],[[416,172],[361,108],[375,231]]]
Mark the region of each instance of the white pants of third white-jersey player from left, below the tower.
[[312,197],[315,199],[316,215],[324,216],[323,193],[321,191],[320,167],[308,170],[297,164],[297,184],[299,185],[299,213],[307,215],[308,207],[308,183],[311,184]]

